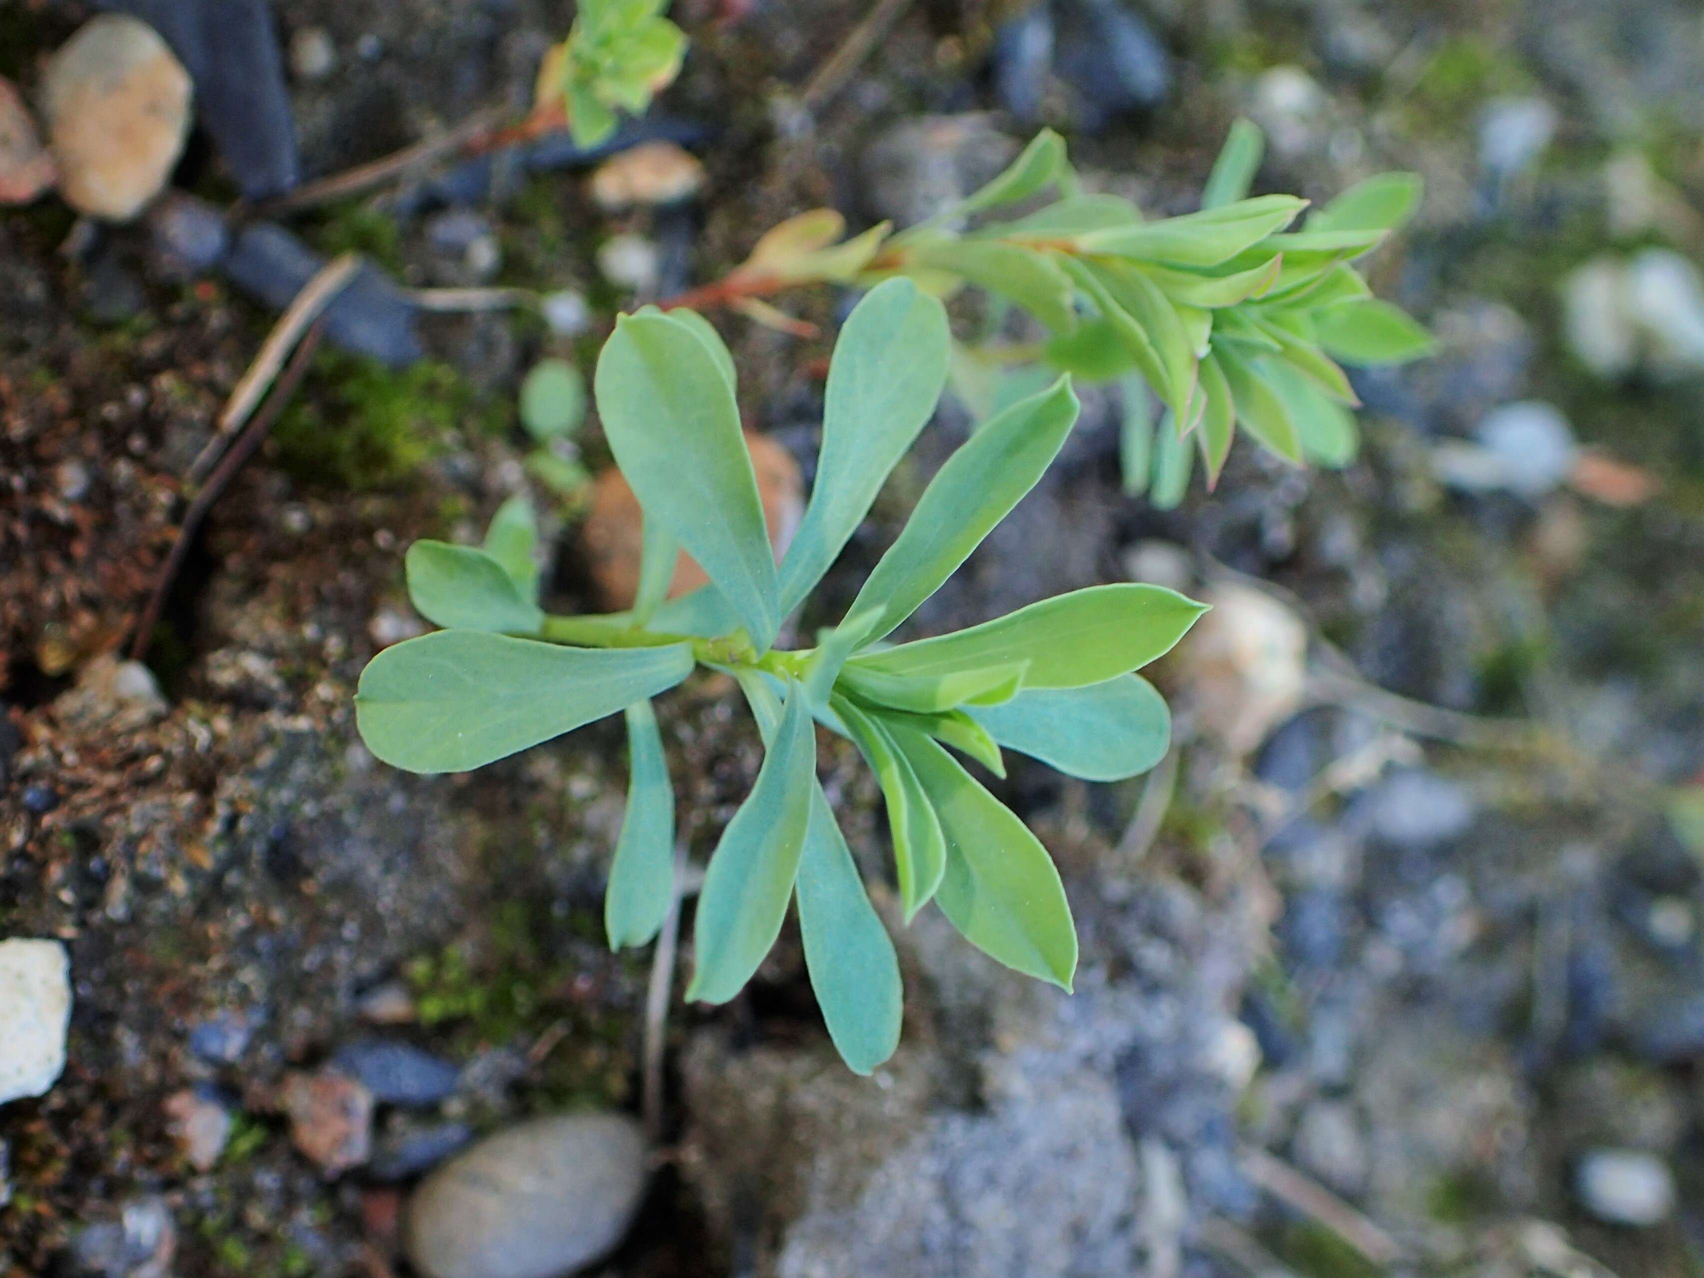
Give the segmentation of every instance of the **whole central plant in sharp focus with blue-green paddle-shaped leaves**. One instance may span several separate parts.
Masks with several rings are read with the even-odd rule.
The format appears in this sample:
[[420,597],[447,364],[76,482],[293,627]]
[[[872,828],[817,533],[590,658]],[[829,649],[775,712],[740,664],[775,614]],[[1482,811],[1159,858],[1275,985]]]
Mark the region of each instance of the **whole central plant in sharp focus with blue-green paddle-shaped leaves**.
[[[622,712],[630,782],[610,869],[612,946],[656,935],[675,893],[673,796],[653,699],[707,666],[738,680],[767,757],[709,859],[688,997],[733,999],[791,901],[811,983],[847,1063],[869,1072],[900,1033],[900,968],[816,780],[813,721],[852,740],[886,797],[907,918],[929,901],[999,961],[1070,987],[1077,937],[1046,850],[944,746],[995,774],[1002,748],[1092,780],[1166,751],[1169,716],[1135,671],[1201,613],[1143,584],[1079,590],[953,634],[886,637],[1039,481],[1077,419],[1068,377],[983,424],[941,467],[815,648],[775,648],[828,571],[947,375],[939,300],[907,279],[874,288],[835,348],[816,486],[777,566],[740,429],[734,370],[697,314],[624,317],[598,360],[610,450],[644,509],[637,602],[559,617],[538,605],[532,530],[508,506],[484,549],[416,542],[407,583],[438,632],[382,651],[356,721],[371,751],[412,772],[463,772]],[[711,578],[665,600],[680,550]]]

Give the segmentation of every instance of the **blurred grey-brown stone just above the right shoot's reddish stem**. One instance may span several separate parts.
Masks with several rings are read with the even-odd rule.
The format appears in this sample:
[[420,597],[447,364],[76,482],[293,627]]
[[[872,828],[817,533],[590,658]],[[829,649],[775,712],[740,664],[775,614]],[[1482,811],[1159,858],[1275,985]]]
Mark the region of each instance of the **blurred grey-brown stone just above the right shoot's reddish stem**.
[[910,227],[987,184],[1016,153],[987,114],[905,119],[864,148],[862,198],[874,216]]

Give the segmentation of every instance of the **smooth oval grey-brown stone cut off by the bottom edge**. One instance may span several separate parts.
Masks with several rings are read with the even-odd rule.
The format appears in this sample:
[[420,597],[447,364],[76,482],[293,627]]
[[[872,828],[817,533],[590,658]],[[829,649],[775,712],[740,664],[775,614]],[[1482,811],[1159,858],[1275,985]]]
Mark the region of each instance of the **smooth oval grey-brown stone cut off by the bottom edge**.
[[556,1278],[622,1241],[646,1179],[630,1118],[538,1118],[428,1176],[409,1200],[402,1246],[428,1278]]

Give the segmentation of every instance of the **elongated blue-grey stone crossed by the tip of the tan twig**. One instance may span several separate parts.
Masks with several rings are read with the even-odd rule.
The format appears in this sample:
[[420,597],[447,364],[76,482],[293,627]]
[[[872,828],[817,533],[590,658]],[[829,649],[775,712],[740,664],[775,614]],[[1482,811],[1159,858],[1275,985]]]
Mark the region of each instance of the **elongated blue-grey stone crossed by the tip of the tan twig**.
[[[324,257],[271,222],[244,227],[220,262],[232,283],[276,310],[288,307],[324,264]],[[363,266],[325,307],[325,337],[400,368],[424,353],[416,319],[407,295],[378,269]]]

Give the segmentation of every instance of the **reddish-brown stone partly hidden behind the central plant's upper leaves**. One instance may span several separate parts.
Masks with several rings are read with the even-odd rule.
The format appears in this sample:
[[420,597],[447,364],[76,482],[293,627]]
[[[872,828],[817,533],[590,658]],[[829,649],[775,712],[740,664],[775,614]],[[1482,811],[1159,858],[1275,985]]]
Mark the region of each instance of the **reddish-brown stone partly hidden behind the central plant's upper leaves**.
[[[777,562],[792,544],[792,533],[804,518],[804,482],[792,453],[763,435],[746,431],[757,491],[763,501],[763,521]],[[612,612],[632,607],[639,590],[639,557],[644,544],[644,511],[620,470],[610,467],[593,484],[591,511],[581,527],[591,581],[603,607]],[[704,569],[685,552],[675,564],[668,596],[678,598],[709,583]]]

